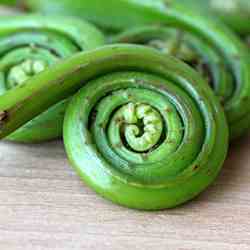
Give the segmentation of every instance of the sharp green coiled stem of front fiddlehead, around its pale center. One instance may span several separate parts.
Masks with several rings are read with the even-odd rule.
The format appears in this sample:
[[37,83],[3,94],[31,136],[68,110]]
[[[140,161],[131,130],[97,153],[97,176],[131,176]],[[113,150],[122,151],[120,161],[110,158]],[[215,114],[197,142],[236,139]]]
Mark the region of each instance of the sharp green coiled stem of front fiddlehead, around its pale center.
[[[128,88],[137,91],[127,95]],[[144,46],[113,45],[79,53],[7,92],[0,99],[0,137],[79,89],[66,112],[65,147],[84,182],[103,197],[136,209],[170,208],[198,195],[217,176],[228,148],[228,127],[217,98],[192,68]],[[145,95],[146,90],[152,94]],[[166,119],[181,116],[181,129],[171,119],[166,125],[167,136],[179,134],[180,141],[166,140],[159,152],[152,149],[136,158],[130,150],[119,156],[119,145],[105,144],[107,138],[113,140],[112,130],[108,136],[96,120],[113,108],[100,105],[96,119],[91,115],[104,96],[110,96],[113,108],[120,106],[120,96],[125,103],[161,105],[158,110]]]

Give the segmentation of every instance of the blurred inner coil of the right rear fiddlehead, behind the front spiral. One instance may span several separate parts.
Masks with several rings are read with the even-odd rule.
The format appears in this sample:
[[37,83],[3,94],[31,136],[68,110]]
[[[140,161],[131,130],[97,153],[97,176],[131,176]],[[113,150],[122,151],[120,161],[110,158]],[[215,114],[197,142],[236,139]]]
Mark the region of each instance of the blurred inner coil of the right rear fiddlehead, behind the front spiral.
[[[143,26],[112,36],[110,43],[143,44],[183,60],[208,80],[222,104],[229,101],[233,94],[233,78],[223,59],[209,44],[188,33],[160,25]],[[201,68],[202,65],[207,69]]]

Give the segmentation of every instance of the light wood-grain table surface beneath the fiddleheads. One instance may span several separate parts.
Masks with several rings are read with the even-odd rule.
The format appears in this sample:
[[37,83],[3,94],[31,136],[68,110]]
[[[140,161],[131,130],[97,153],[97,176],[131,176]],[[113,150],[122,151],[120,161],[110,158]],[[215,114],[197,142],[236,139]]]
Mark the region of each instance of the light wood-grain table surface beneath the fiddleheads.
[[0,250],[250,249],[250,136],[232,145],[206,192],[154,213],[97,196],[61,142],[1,142],[0,162]]

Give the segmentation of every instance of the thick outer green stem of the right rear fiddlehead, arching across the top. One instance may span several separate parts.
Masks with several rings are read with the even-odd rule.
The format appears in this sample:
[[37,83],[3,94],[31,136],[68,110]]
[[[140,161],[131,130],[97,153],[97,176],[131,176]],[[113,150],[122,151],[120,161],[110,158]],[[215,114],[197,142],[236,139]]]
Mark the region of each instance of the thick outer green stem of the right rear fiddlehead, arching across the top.
[[[32,0],[31,0],[32,3]],[[172,2],[162,0],[102,0],[57,1],[50,8],[45,1],[34,1],[37,9],[45,12],[63,13],[73,8],[72,13],[82,13],[93,22],[114,30],[129,29],[135,25],[161,23],[168,27],[183,29],[211,44],[224,58],[231,74],[235,78],[235,91],[230,102],[225,105],[230,136],[232,139],[246,133],[250,127],[250,59],[246,46],[227,27],[217,20],[196,16],[190,9]],[[72,6],[72,7],[70,7]],[[84,10],[84,11],[83,11]]]

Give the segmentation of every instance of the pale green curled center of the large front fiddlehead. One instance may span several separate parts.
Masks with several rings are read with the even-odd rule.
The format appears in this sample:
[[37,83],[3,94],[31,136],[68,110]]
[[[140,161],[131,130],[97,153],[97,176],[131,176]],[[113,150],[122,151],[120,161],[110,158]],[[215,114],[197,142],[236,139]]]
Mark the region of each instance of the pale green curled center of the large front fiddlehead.
[[145,152],[157,145],[163,132],[160,113],[150,105],[129,103],[119,111],[124,119],[124,135],[135,151]]

